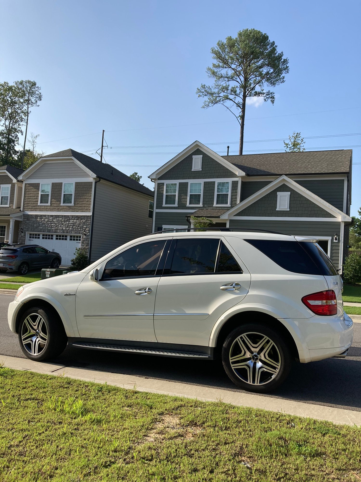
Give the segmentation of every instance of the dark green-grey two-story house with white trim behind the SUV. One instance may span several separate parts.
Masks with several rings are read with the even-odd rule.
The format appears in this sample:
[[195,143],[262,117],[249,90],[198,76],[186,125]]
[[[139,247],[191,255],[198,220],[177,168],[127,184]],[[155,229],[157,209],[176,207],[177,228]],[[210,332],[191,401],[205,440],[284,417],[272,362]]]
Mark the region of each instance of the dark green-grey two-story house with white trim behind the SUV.
[[312,236],[342,272],[351,223],[352,150],[219,156],[195,141],[149,176],[153,231],[214,227]]

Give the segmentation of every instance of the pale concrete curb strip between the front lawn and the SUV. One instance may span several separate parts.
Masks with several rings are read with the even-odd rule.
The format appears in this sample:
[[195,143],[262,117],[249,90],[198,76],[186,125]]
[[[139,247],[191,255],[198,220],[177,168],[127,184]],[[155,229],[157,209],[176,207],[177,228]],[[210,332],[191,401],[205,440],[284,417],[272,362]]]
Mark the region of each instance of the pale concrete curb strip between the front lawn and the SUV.
[[262,397],[253,393],[225,390],[222,388],[207,388],[187,383],[157,380],[135,375],[107,373],[85,368],[75,368],[54,363],[32,362],[24,358],[0,355],[0,364],[16,370],[29,370],[47,375],[61,375],[97,383],[107,383],[117,387],[139,390],[150,393],[161,393],[186,397],[202,401],[222,401],[232,405],[261,408],[290,415],[329,420],[338,424],[361,425],[361,412],[341,408],[326,407],[293,400],[272,397]]

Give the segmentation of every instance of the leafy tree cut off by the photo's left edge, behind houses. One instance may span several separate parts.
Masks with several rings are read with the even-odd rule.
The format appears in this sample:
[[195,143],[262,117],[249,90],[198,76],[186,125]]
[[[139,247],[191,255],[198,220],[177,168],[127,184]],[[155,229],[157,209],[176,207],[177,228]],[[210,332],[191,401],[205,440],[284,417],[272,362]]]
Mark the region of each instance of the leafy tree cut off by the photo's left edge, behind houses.
[[25,118],[22,95],[17,85],[0,83],[0,164],[13,164],[19,134],[23,134],[21,125]]

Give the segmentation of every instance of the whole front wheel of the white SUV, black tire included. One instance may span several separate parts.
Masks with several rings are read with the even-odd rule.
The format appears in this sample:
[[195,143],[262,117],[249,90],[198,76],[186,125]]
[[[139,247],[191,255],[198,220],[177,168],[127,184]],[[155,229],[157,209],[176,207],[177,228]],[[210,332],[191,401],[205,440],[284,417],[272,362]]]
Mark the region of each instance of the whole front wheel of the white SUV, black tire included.
[[26,357],[37,362],[59,356],[68,341],[56,311],[41,305],[29,308],[21,315],[18,337]]

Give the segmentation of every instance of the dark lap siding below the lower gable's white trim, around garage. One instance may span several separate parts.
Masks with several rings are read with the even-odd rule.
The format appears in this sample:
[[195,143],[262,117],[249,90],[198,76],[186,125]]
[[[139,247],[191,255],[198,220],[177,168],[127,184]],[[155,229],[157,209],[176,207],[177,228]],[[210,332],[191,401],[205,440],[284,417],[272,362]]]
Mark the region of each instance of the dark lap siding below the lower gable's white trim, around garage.
[[335,267],[339,267],[340,243],[334,241],[337,234],[340,240],[340,223],[328,221],[263,221],[248,219],[230,219],[230,228],[240,228],[252,230],[266,229],[277,231],[282,234],[292,234],[295,236],[331,236],[331,260]]

